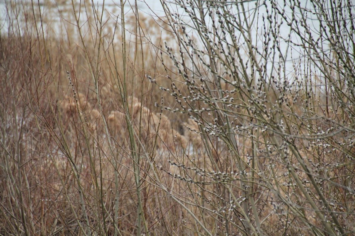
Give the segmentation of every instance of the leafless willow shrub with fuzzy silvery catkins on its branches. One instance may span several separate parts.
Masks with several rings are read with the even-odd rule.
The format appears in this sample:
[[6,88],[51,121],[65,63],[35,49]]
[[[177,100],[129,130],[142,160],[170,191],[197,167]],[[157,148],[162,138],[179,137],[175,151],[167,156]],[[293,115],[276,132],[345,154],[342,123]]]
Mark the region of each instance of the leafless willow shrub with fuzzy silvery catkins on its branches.
[[[181,107],[177,111],[197,122],[206,150],[212,149],[206,154],[213,170],[234,167],[240,174],[233,185],[215,184],[216,191],[225,189],[232,201],[242,198],[235,211],[220,215],[220,232],[354,232],[345,223],[354,215],[343,207],[353,202],[353,174],[350,185],[323,174],[340,163],[354,166],[343,138],[345,130],[348,141],[354,135],[350,82],[354,57],[349,54],[353,5],[330,1],[175,4],[184,14],[162,1],[165,22],[175,33],[179,49],[165,43],[161,59],[163,64],[171,60],[175,69],[169,70],[183,78],[188,92],[176,88],[170,75],[171,89],[147,78],[175,98]],[[312,13],[315,18],[310,18]],[[335,118],[340,110],[345,116]],[[225,151],[213,152],[216,147]],[[338,199],[331,193],[334,189],[350,198]],[[229,203],[223,200],[218,209]]]

